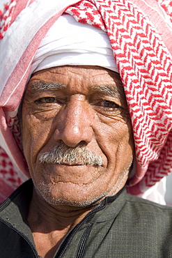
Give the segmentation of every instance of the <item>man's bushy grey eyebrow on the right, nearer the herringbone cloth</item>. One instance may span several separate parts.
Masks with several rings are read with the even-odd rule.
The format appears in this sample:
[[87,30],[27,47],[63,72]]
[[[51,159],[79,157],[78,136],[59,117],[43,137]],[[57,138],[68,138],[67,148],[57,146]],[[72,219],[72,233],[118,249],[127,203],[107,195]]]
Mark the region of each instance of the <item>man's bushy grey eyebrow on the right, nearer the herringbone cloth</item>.
[[107,94],[109,96],[114,96],[118,98],[125,98],[125,93],[123,86],[121,84],[120,87],[108,84],[108,85],[98,85],[98,86],[93,86],[93,90],[99,91],[101,93]]

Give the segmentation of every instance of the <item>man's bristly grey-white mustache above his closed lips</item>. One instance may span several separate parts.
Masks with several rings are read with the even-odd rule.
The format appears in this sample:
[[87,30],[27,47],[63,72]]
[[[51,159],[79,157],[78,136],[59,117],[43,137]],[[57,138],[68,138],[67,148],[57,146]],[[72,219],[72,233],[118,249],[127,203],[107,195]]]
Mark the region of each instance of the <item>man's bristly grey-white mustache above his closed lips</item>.
[[71,148],[63,142],[55,146],[52,151],[40,155],[40,163],[61,165],[92,165],[102,166],[102,157],[89,151],[85,146]]

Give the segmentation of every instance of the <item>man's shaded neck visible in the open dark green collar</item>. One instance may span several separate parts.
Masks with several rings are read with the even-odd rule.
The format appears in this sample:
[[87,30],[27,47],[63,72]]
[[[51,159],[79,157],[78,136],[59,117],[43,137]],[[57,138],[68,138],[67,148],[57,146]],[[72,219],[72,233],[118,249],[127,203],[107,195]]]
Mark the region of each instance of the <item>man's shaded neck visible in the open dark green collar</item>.
[[63,238],[92,208],[54,207],[42,200],[33,190],[27,220],[38,255],[52,258]]

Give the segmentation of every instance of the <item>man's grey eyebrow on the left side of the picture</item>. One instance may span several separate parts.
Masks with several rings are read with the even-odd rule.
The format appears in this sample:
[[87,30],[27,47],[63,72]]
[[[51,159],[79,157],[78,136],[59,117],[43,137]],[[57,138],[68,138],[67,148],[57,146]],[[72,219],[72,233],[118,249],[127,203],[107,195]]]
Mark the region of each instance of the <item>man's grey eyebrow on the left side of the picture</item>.
[[36,81],[36,82],[32,82],[32,86],[33,86],[32,89],[36,91],[41,91],[41,90],[56,91],[56,89],[66,89],[66,85],[60,84],[58,82]]

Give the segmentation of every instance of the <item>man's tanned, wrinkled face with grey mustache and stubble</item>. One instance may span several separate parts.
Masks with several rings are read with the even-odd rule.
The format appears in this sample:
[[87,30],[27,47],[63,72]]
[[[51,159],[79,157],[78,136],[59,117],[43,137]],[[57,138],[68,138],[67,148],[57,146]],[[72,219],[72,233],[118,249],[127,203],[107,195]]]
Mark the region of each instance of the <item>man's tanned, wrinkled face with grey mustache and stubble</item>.
[[114,195],[133,152],[119,75],[98,66],[34,74],[22,106],[22,142],[36,192],[49,204],[87,206]]

